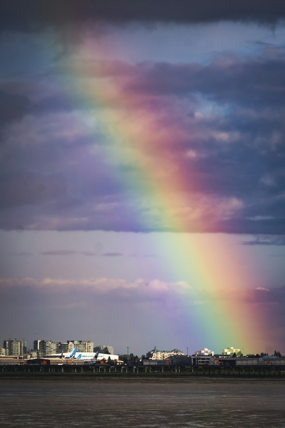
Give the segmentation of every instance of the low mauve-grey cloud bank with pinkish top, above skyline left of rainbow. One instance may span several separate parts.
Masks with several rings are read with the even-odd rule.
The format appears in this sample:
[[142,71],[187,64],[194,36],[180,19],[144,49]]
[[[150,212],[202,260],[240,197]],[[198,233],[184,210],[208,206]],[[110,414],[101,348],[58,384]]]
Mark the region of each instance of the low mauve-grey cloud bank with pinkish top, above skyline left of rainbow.
[[[148,344],[153,343],[158,335],[163,343],[169,343],[169,347],[171,342],[181,344],[182,333],[179,332],[184,332],[181,316],[173,309],[177,307],[179,296],[185,295],[183,285],[158,280],[2,278],[1,314],[8,319],[13,307],[21,317],[21,322],[12,317],[9,325],[3,325],[2,337],[9,337],[12,331],[32,344],[32,340],[39,335],[63,341],[68,337],[82,337],[84,331],[84,337],[94,342],[108,340],[117,352],[132,346],[140,354],[146,352],[144,348],[148,348]],[[177,293],[179,290],[180,294]],[[165,314],[167,309],[169,313]],[[84,325],[74,314],[79,314],[79,318],[84,316]],[[163,321],[162,314],[166,315]],[[167,329],[166,322],[169,322]],[[157,326],[155,330],[153,324]],[[94,334],[94,325],[100,326],[97,330],[101,331]],[[175,333],[171,325],[175,325]],[[126,340],[131,341],[132,345]]]

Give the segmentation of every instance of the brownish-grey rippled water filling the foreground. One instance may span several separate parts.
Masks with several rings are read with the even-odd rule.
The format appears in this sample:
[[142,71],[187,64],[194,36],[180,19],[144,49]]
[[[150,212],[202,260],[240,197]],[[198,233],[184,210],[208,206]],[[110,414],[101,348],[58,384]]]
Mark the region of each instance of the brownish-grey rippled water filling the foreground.
[[285,380],[1,380],[1,427],[285,427]]

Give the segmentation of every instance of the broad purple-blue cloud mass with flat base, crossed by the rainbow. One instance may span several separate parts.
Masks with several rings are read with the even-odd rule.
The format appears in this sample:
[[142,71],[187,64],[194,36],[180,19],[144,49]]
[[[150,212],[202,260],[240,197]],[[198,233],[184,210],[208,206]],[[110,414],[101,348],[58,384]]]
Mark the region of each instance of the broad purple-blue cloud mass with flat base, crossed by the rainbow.
[[[177,207],[177,224],[199,208],[189,232],[285,234],[284,50],[227,54],[208,65],[95,62],[92,70],[88,78],[108,77],[133,114],[151,111],[175,135],[161,153],[184,178],[179,190],[189,206]],[[56,80],[65,72],[54,66],[36,82],[0,84],[2,110],[7,106],[0,227],[175,231],[162,220],[166,207],[144,187],[137,191],[135,160],[108,159],[112,145],[100,123],[82,125],[97,107],[68,96]]]

